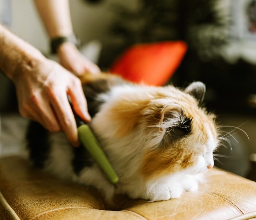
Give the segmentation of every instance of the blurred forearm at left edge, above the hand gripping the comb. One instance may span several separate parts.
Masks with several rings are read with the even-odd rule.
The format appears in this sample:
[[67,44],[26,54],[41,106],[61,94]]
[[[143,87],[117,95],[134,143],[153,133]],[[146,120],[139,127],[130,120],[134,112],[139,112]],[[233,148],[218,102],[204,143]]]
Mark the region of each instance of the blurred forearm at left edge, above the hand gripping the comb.
[[0,69],[13,79],[23,68],[31,68],[44,56],[0,25]]

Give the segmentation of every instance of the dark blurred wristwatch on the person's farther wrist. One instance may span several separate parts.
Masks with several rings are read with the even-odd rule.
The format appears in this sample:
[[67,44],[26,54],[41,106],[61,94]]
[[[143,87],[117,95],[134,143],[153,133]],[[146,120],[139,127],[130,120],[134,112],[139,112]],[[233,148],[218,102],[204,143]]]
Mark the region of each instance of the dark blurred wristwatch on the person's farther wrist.
[[53,38],[51,41],[50,41],[50,47],[51,47],[51,53],[52,54],[56,54],[57,53],[57,50],[58,50],[58,47],[65,43],[65,42],[71,42],[71,43],[74,43],[74,45],[76,47],[79,47],[80,46],[80,40],[76,37],[75,34],[71,34],[69,36],[59,36],[59,37],[56,37],[56,38]]

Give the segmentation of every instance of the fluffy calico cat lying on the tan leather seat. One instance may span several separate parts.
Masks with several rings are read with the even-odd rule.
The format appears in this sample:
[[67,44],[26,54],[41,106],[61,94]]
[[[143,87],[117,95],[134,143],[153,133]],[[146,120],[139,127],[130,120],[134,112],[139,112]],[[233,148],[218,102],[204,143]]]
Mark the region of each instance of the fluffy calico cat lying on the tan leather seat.
[[218,146],[215,116],[200,107],[202,82],[180,90],[132,84],[112,74],[86,74],[81,81],[90,127],[120,181],[111,184],[84,147],[72,147],[64,134],[31,122],[27,147],[35,166],[94,186],[109,200],[126,194],[161,201],[197,190]]

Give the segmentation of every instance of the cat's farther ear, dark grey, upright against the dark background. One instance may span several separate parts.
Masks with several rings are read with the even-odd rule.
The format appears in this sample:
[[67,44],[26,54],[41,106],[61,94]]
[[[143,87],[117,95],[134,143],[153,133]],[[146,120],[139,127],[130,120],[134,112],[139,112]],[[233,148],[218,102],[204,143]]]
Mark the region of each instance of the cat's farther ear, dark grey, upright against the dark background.
[[185,90],[185,93],[193,96],[199,103],[204,100],[204,94],[206,92],[206,87],[203,82],[192,82]]

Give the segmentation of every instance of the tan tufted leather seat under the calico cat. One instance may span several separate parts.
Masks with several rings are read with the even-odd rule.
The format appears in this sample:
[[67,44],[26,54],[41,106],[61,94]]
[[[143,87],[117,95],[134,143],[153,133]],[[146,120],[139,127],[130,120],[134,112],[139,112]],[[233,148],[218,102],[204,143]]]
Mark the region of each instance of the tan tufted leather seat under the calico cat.
[[[134,189],[136,190],[136,189]],[[107,211],[95,190],[56,180],[19,157],[0,158],[0,219],[252,219],[256,183],[218,169],[198,192],[146,202],[118,197]]]

